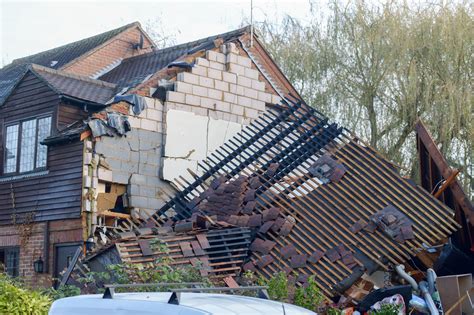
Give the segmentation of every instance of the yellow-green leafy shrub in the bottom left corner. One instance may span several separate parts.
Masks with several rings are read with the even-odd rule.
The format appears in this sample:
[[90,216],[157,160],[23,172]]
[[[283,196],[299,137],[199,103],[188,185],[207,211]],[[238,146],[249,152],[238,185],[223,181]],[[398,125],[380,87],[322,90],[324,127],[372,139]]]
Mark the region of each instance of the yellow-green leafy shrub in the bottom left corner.
[[50,306],[49,296],[0,273],[0,314],[47,314]]

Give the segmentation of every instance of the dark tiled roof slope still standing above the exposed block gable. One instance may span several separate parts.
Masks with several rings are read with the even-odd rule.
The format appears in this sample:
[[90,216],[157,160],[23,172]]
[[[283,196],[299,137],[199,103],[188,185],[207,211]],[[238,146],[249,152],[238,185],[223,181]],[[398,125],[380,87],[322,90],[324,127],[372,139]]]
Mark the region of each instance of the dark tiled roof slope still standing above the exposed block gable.
[[182,56],[215,47],[214,41],[222,38],[224,42],[236,39],[249,30],[243,27],[231,32],[214,35],[189,43],[158,49],[136,57],[130,57],[99,79],[116,83],[120,87],[133,87],[142,83],[148,76],[166,68]]

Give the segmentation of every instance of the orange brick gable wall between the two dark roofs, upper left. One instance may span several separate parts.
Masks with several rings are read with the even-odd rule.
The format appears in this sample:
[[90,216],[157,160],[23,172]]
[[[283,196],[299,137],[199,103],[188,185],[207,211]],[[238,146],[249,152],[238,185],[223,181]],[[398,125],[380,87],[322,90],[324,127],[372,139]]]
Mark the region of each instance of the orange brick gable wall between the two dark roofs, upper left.
[[116,65],[122,59],[150,52],[151,42],[146,37],[144,37],[144,49],[133,49],[132,45],[139,42],[140,34],[142,32],[138,27],[131,28],[89,55],[80,57],[78,60],[66,65],[61,70],[97,77],[98,74]]

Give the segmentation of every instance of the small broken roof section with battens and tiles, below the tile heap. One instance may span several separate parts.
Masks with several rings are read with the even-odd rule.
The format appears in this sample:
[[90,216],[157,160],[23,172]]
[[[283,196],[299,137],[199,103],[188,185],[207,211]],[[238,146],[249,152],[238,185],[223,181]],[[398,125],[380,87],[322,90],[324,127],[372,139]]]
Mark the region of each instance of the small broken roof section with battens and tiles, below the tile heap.
[[[247,258],[251,230],[246,227],[192,228],[179,231],[142,228],[138,236],[124,234],[115,243],[120,259],[126,263],[154,263],[160,258],[173,259],[173,265],[198,267],[201,275],[210,277],[236,275]],[[142,234],[142,235],[140,235]],[[166,245],[166,249],[160,249]]]

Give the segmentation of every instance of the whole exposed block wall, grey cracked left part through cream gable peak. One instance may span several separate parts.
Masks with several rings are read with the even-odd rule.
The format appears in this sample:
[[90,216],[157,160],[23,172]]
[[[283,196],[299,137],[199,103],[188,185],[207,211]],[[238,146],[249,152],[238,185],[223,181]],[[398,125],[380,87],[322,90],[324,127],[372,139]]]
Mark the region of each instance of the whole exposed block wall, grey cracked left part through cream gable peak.
[[165,202],[163,189],[179,176],[199,173],[198,162],[237,134],[280,97],[252,60],[233,43],[196,58],[190,71],[178,73],[166,100],[145,97],[147,108],[129,113],[131,131],[100,137],[85,146],[83,210],[98,225],[97,196],[103,183],[127,187],[132,215],[146,218]]

